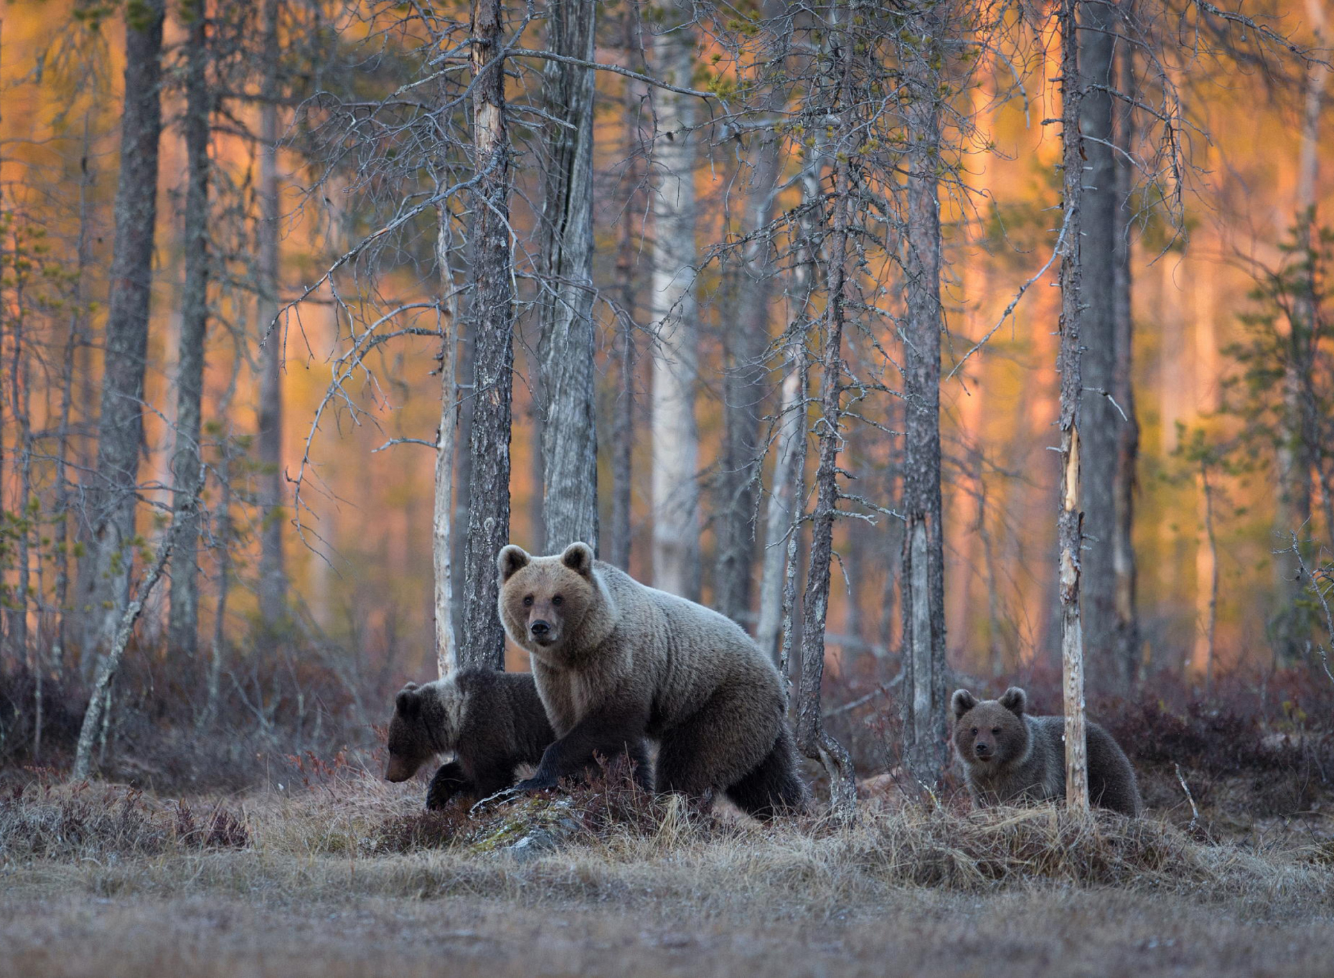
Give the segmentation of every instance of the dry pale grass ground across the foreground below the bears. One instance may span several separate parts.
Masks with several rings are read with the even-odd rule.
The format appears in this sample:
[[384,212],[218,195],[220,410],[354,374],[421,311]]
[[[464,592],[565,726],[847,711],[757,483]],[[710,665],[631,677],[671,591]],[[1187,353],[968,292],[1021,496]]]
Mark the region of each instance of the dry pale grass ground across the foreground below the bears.
[[[1329,975],[1334,819],[688,817],[623,790],[420,814],[343,771],[0,797],[4,975]],[[514,854],[534,826],[551,850]]]

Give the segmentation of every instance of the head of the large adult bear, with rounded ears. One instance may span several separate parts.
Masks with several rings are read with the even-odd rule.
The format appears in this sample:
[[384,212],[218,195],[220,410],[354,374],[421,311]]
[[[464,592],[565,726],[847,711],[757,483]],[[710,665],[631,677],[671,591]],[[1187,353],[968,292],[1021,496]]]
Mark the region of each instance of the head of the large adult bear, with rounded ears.
[[539,658],[559,652],[600,600],[592,560],[586,543],[571,543],[560,556],[530,556],[514,544],[502,550],[500,619],[510,638]]

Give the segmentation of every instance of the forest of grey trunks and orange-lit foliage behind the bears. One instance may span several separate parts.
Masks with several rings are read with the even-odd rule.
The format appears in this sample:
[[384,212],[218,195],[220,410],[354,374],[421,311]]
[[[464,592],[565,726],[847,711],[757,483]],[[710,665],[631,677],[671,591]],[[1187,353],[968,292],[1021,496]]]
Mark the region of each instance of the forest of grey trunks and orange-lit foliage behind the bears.
[[1314,664],[1323,7],[1070,7],[1078,79],[1034,3],[8,9],[0,738],[169,536],[103,755],[522,668],[495,552],[582,536],[932,781],[950,683],[1058,670],[1066,84],[1090,692]]

